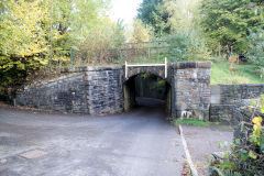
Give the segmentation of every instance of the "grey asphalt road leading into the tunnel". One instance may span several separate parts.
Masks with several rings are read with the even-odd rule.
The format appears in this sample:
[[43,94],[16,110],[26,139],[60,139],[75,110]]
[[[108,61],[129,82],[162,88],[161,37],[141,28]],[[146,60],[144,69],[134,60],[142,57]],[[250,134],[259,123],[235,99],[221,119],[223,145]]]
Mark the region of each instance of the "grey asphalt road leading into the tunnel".
[[[35,150],[44,155],[22,156]],[[108,117],[0,108],[1,176],[179,176],[184,161],[157,107]]]

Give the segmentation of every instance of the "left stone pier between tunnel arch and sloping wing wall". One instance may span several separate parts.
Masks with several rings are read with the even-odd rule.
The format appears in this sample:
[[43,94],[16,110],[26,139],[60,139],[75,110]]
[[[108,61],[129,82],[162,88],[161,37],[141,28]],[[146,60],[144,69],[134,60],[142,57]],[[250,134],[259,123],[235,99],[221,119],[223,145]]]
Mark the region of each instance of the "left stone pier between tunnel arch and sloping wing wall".
[[90,114],[117,113],[123,111],[121,66],[100,67],[87,74],[87,97]]

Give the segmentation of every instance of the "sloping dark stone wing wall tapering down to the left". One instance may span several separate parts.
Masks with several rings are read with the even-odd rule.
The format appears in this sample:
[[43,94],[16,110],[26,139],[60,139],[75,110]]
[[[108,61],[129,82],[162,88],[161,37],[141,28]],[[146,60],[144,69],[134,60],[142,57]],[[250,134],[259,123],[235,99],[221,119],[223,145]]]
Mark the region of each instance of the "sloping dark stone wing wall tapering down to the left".
[[59,111],[87,112],[84,74],[73,73],[50,81],[25,86],[15,105]]

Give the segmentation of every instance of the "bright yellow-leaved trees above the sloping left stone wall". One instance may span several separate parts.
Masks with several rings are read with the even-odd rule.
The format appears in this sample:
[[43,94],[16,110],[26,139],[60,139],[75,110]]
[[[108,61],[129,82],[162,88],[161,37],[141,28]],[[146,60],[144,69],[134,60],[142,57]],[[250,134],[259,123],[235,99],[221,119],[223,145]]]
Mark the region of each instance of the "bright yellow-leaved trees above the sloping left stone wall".
[[[107,46],[123,43],[123,29],[102,18],[108,4],[108,0],[0,1],[0,89],[19,86],[43,68],[67,65],[72,48],[84,47],[88,40],[102,43],[107,30],[114,31]],[[105,32],[101,37],[96,29]]]

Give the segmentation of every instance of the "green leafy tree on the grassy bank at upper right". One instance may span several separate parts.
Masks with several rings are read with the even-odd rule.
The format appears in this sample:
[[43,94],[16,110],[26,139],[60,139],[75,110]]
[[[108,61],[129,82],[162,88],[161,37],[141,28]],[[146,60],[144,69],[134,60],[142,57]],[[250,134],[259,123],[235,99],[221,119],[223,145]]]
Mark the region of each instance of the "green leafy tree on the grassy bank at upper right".
[[262,28],[263,8],[251,0],[204,0],[200,16],[211,50],[220,44],[222,52],[245,54],[246,35]]

